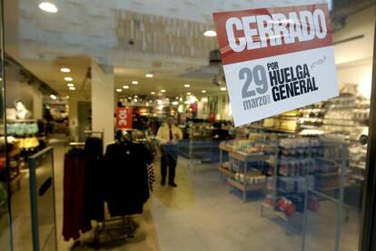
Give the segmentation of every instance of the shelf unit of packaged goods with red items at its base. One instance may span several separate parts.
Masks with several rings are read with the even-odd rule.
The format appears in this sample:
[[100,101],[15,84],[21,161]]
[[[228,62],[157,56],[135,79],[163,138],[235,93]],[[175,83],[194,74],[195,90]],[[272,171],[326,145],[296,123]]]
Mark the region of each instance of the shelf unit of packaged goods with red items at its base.
[[[298,214],[319,211],[320,199],[316,194],[344,187],[339,166],[344,163],[342,157],[347,156],[340,155],[341,143],[329,144],[320,136],[281,137],[279,148],[276,164],[267,178],[261,210],[262,216],[268,209],[290,224],[292,219],[299,218]],[[302,224],[303,221],[298,223],[297,228]]]

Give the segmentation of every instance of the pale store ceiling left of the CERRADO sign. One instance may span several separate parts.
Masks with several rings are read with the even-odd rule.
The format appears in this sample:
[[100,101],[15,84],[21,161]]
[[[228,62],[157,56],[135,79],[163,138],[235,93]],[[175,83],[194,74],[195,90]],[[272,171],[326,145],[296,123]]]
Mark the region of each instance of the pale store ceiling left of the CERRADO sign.
[[[192,85],[192,93],[200,93],[202,89],[219,93],[219,87],[212,84],[216,69],[206,67],[209,52],[218,45],[215,37],[203,36],[205,30],[213,28],[213,12],[312,3],[308,0],[50,2],[57,5],[57,14],[39,10],[37,0],[5,0],[5,51],[61,95],[69,94],[64,75],[74,78],[76,92],[88,93],[90,85],[84,79],[92,59],[114,73],[116,87],[139,81],[139,85],[131,85],[129,94],[166,89],[172,95],[182,95],[187,91],[183,87],[186,83]],[[59,72],[63,66],[70,67],[72,72]],[[147,79],[146,73],[153,73],[154,77]]]

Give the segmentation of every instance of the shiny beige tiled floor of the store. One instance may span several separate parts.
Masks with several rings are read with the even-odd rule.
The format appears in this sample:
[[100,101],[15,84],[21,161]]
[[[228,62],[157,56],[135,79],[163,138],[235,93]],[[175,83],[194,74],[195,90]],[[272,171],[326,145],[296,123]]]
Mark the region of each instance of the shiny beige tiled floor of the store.
[[[63,156],[66,149],[62,145],[54,145],[59,250],[93,250],[93,232],[85,234],[76,246],[73,241],[64,242],[61,236]],[[286,231],[285,222],[280,218],[261,217],[262,195],[249,196],[247,203],[242,203],[241,196],[229,193],[229,187],[221,180],[215,166],[204,170],[198,167],[196,172],[192,172],[187,162],[180,159],[176,182],[177,188],[155,184],[143,215],[134,216],[138,225],[134,238],[116,239],[116,234],[112,237],[103,235],[97,249],[301,250],[302,235]],[[322,202],[319,213],[309,213],[305,250],[334,250],[336,210],[336,205],[327,201]],[[350,220],[342,222],[341,250],[356,250],[357,219],[357,213],[351,211]],[[15,231],[23,232],[21,228]],[[25,239],[20,239],[18,243],[16,251],[30,250],[25,246]]]

